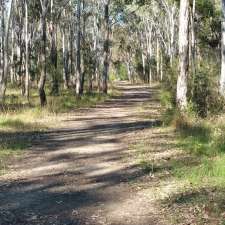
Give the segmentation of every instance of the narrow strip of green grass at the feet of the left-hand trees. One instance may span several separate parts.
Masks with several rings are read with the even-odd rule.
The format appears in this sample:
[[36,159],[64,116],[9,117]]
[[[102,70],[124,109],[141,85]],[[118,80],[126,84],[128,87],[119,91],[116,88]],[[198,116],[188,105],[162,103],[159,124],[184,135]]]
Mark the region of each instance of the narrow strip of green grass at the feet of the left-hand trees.
[[[49,90],[46,91],[46,93],[49,92]],[[94,92],[91,94],[85,93],[81,97],[76,97],[74,90],[61,90],[59,96],[47,95],[48,104],[45,110],[50,113],[64,113],[76,108],[92,107],[113,95],[118,95],[114,87],[109,90],[108,95]],[[31,90],[30,102],[28,103],[26,98],[20,95],[20,90],[15,88],[7,90],[5,105],[1,106],[1,111],[6,113],[18,112],[32,108],[40,108],[37,90]]]

